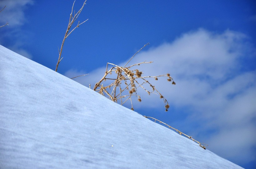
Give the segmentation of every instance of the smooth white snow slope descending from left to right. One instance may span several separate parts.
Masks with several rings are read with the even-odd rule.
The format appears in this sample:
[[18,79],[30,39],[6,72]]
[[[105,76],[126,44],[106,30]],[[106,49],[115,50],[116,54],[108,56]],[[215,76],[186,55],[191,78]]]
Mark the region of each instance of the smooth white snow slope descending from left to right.
[[0,45],[0,168],[242,168]]

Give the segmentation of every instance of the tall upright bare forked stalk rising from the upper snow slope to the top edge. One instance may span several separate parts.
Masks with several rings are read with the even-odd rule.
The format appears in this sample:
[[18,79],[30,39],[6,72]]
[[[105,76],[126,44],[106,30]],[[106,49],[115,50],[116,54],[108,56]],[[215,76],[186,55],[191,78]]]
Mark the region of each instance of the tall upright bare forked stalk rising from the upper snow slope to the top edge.
[[82,23],[79,23],[79,21],[78,21],[76,27],[75,27],[74,29],[72,29],[72,30],[69,32],[69,30],[70,30],[72,24],[76,21],[76,19],[78,18],[79,14],[81,13],[81,11],[82,11],[84,5],[86,4],[86,1],[87,1],[87,0],[85,0],[85,2],[83,3],[81,9],[80,9],[78,12],[75,12],[75,10],[74,10],[74,16],[73,16],[73,8],[74,8],[74,4],[75,4],[76,1],[74,1],[74,3],[73,3],[72,10],[71,10],[71,14],[70,14],[70,17],[69,17],[69,22],[68,22],[67,30],[66,30],[64,39],[63,39],[63,41],[62,41],[61,49],[59,50],[59,58],[58,58],[58,62],[57,62],[55,71],[57,71],[58,66],[59,66],[59,63],[61,62],[61,60],[62,60],[62,58],[63,58],[63,57],[61,58],[61,54],[62,54],[62,49],[63,49],[63,45],[64,45],[64,42],[65,42],[66,38],[71,34],[71,32],[73,32],[73,31],[74,31],[76,28],[78,28],[81,24],[83,24],[83,23],[85,23],[86,21],[88,21],[88,19],[87,19],[86,21],[83,21]]

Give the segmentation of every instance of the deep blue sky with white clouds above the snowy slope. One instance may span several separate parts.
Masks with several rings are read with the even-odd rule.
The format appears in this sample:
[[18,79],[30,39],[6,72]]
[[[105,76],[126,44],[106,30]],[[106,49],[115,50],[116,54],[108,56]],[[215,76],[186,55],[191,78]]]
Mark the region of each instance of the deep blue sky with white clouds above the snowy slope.
[[[75,2],[78,11],[82,0]],[[0,44],[55,70],[73,1],[3,0]],[[209,144],[209,150],[244,168],[256,165],[256,3],[254,1],[90,1],[85,21],[66,39],[58,72],[94,85],[106,63],[133,63],[170,103],[140,94],[135,111]],[[127,105],[130,108],[130,105]]]

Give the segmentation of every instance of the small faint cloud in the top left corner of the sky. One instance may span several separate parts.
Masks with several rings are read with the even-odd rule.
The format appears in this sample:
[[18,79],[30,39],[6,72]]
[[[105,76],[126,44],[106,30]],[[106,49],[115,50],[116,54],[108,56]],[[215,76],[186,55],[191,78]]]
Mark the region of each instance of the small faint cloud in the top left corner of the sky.
[[0,23],[3,25],[6,22],[9,26],[23,25],[26,22],[24,10],[27,5],[32,5],[32,0],[2,0],[0,2],[1,9],[5,9],[0,13]]

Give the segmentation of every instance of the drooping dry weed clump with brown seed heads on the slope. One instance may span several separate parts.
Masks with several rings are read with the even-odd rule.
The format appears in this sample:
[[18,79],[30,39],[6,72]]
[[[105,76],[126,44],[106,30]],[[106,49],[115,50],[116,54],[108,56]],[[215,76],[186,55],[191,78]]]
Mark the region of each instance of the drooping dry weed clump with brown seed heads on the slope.
[[[149,43],[145,44],[140,50],[142,50],[145,46],[147,46]],[[141,102],[141,97],[137,95],[137,89],[142,88],[144,89],[149,95],[151,93],[156,92],[155,94],[159,94],[160,98],[164,100],[165,103],[165,111],[168,111],[168,108],[170,107],[167,100],[164,98],[162,94],[153,86],[147,79],[148,78],[154,78],[157,80],[158,77],[166,76],[168,81],[172,82],[173,85],[175,85],[175,82],[173,81],[170,74],[164,74],[164,75],[157,75],[157,76],[142,76],[142,72],[138,69],[132,69],[134,66],[139,66],[140,64],[144,63],[152,63],[152,62],[141,62],[137,63],[131,66],[126,65],[131,61],[131,59],[140,52],[136,52],[130,60],[125,64],[125,66],[117,66],[113,63],[107,63],[106,66],[106,72],[105,75],[101,78],[101,80],[95,84],[93,90],[97,91],[98,93],[102,95],[106,95],[111,99],[112,101],[116,102],[120,100],[121,105],[126,103],[126,101],[130,100],[131,103],[131,110],[133,109],[132,105],[132,96],[138,96],[138,101]],[[108,66],[111,65],[111,67],[108,70]],[[116,73],[116,78],[108,78],[107,75],[111,75],[112,72]],[[103,86],[101,83],[102,81],[106,80],[112,80],[112,83],[106,86]],[[140,82],[140,81],[142,82]],[[125,85],[121,85],[124,83]],[[147,84],[151,87],[152,91],[145,89],[144,85]],[[123,88],[124,87],[124,88]]]

